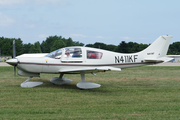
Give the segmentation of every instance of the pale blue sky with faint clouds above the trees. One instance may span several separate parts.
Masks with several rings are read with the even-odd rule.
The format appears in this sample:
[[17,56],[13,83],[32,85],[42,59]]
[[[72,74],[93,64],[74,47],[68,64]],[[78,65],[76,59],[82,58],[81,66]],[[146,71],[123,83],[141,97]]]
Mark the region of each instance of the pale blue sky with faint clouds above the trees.
[[0,0],[0,37],[35,43],[49,36],[84,44],[180,41],[179,0]]

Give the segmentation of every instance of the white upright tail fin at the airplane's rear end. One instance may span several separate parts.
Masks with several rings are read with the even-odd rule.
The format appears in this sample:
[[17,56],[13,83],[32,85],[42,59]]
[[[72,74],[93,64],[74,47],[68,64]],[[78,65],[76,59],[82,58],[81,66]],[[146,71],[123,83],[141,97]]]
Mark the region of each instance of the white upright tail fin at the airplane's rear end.
[[149,47],[141,51],[145,61],[166,61],[165,57],[172,36],[160,36]]

